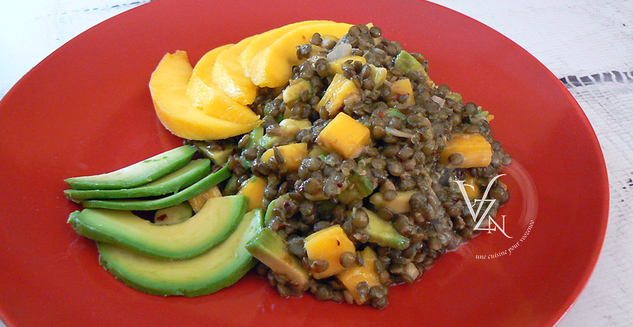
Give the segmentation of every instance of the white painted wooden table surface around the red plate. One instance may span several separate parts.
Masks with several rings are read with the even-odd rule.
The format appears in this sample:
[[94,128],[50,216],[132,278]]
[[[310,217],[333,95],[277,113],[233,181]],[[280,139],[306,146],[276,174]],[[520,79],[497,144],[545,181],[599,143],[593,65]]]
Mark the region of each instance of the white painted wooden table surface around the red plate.
[[[0,96],[80,32],[148,0],[0,6]],[[506,35],[567,82],[596,131],[610,214],[592,278],[561,327],[633,326],[633,1],[435,0]],[[3,295],[0,295],[3,296]],[[0,327],[4,323],[0,321]]]

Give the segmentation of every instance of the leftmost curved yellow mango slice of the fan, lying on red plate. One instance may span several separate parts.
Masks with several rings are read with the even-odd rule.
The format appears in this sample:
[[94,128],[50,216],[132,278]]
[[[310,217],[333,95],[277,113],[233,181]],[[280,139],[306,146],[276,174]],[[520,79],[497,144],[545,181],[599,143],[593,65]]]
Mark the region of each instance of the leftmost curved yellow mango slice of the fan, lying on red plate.
[[205,115],[186,96],[193,68],[184,51],[167,53],[152,73],[149,88],[160,122],[176,136],[190,140],[217,140],[245,134],[261,122],[228,122]]

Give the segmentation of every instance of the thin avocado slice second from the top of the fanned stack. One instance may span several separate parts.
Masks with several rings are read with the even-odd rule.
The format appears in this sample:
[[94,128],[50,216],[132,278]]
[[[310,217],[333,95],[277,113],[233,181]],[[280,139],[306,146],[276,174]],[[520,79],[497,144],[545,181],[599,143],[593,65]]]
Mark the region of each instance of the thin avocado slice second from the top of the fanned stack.
[[68,200],[76,203],[87,199],[117,199],[117,198],[143,198],[146,196],[164,195],[177,192],[181,188],[190,186],[196,181],[207,176],[211,170],[211,162],[208,159],[197,159],[189,162],[185,167],[156,179],[148,184],[135,188],[122,188],[120,190],[65,190]]

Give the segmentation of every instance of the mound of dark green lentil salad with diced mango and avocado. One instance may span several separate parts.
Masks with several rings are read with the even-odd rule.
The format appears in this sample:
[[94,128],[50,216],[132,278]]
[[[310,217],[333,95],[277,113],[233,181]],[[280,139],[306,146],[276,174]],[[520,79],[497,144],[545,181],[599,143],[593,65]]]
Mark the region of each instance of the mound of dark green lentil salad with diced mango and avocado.
[[[462,103],[448,86],[436,86],[428,77],[426,58],[383,38],[379,27],[353,26],[340,39],[316,33],[298,46],[297,57],[301,63],[293,67],[290,85],[281,93],[260,88],[250,105],[262,117],[260,129],[222,141],[192,142],[209,151],[233,149],[227,166],[234,177],[224,185],[224,195],[240,192],[253,178],[265,183],[267,227],[310,274],[307,283],[298,284],[257,264],[257,273],[282,297],[309,292],[319,300],[385,307],[390,286],[413,283],[442,254],[476,235],[475,220],[452,181],[466,180],[476,198],[475,190],[496,177],[511,157],[494,141],[492,115]],[[335,96],[328,98],[333,85],[352,91],[337,104]],[[358,153],[319,140],[341,115],[367,129],[368,141]],[[452,140],[475,136],[488,145],[490,158],[484,164],[473,164],[467,151],[444,151]],[[298,160],[288,148],[296,144],[305,144],[306,155]],[[289,168],[293,160],[295,169]],[[494,217],[509,192],[497,179],[490,196],[497,200],[489,212]],[[376,243],[367,231],[374,215],[406,243],[399,248]],[[353,250],[341,252],[338,262],[311,259],[309,237],[333,226],[340,226]],[[370,262],[376,281],[350,288],[340,274],[316,278],[335,264],[344,271]]]

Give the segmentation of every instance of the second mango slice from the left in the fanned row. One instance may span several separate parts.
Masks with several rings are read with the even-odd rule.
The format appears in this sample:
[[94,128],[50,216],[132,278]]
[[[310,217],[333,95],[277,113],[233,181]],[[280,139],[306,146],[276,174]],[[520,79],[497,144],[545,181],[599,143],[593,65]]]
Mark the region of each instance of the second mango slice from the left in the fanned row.
[[215,66],[217,57],[220,53],[231,49],[231,46],[231,44],[219,46],[198,60],[196,67],[193,68],[191,79],[189,79],[187,97],[191,99],[194,107],[203,109],[205,115],[229,122],[250,124],[260,117],[247,106],[226,96],[211,78],[211,71]]

